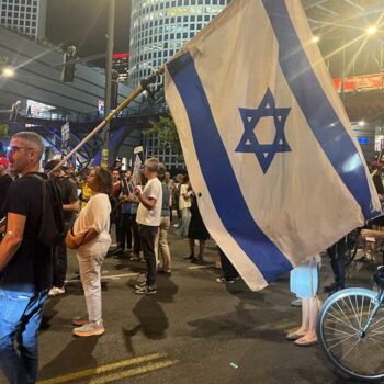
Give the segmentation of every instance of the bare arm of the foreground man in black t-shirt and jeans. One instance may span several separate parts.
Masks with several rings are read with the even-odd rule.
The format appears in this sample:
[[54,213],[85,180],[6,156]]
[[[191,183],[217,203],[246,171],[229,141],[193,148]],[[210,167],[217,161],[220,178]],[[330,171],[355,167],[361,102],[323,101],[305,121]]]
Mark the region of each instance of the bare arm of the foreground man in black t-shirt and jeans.
[[0,271],[13,258],[23,240],[26,216],[9,213],[7,216],[5,236],[0,242]]

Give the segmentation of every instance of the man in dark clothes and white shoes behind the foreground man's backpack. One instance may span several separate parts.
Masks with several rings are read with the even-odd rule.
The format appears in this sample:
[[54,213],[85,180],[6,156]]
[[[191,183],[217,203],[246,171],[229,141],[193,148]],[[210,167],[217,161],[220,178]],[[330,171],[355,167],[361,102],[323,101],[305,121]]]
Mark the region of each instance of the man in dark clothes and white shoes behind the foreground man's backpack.
[[[60,160],[50,160],[45,167],[44,171],[48,173],[52,171]],[[77,195],[77,188],[75,182],[67,177],[64,167],[59,168],[50,174],[57,182],[60,189],[61,201],[63,201],[63,215],[66,229],[69,229],[76,218],[76,213],[79,211],[79,197]],[[57,245],[54,249],[54,281],[53,287],[48,292],[48,296],[63,295],[66,291],[64,282],[67,274],[67,247],[65,241]]]

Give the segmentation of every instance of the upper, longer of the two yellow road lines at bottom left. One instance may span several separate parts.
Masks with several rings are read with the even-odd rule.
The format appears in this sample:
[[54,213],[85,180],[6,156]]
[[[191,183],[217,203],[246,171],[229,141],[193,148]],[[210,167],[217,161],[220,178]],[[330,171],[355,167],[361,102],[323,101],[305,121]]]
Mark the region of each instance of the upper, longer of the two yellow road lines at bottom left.
[[106,364],[106,365],[91,368],[89,370],[68,373],[66,375],[54,377],[54,379],[43,380],[43,381],[38,382],[38,384],[66,383],[66,382],[72,381],[72,380],[92,376],[92,375],[109,372],[109,371],[115,371],[115,370],[118,370],[118,369],[124,368],[124,366],[139,364],[139,363],[144,363],[147,361],[151,361],[151,360],[160,359],[160,358],[166,358],[166,357],[167,357],[166,353],[151,353],[151,354],[147,354],[147,355],[139,357],[139,358],[118,361],[116,363],[111,363],[111,364]]

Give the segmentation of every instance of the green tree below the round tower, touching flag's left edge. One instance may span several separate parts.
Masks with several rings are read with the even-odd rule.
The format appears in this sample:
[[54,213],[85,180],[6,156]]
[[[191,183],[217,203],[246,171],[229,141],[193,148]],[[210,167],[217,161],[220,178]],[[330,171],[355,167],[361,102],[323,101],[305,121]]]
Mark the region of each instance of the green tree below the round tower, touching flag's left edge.
[[171,116],[160,116],[159,121],[151,123],[150,128],[143,132],[144,136],[151,134],[157,135],[161,148],[170,148],[180,160],[183,159],[178,129]]

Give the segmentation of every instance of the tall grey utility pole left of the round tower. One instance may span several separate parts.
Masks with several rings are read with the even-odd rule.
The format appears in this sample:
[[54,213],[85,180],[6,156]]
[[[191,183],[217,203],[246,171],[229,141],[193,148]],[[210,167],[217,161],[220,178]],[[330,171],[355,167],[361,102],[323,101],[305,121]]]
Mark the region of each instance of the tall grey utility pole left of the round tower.
[[[104,98],[104,117],[111,112],[111,87],[112,87],[112,55],[114,43],[114,24],[115,24],[115,0],[108,2],[108,31],[106,31],[106,61],[105,61],[105,98]],[[109,166],[109,144],[110,144],[110,122],[104,128],[104,146],[102,151],[101,166]]]

